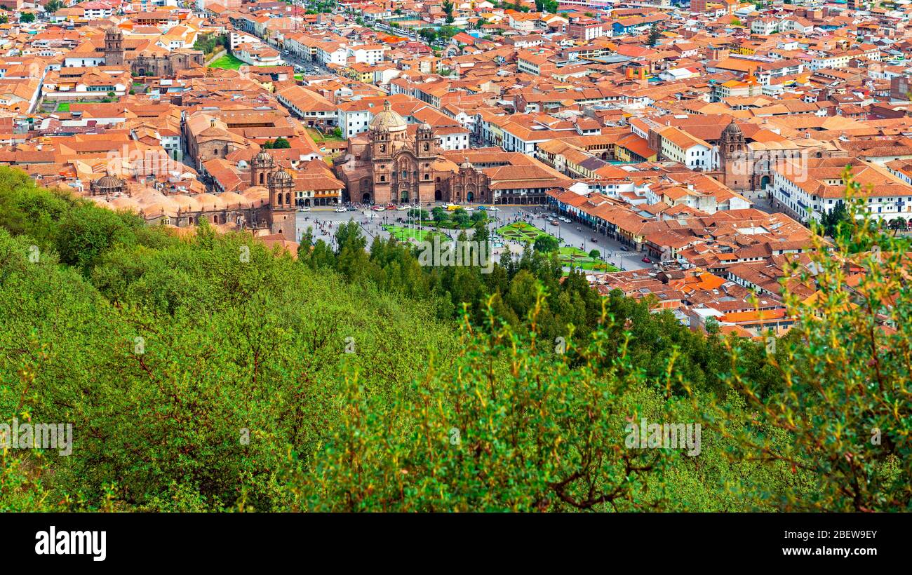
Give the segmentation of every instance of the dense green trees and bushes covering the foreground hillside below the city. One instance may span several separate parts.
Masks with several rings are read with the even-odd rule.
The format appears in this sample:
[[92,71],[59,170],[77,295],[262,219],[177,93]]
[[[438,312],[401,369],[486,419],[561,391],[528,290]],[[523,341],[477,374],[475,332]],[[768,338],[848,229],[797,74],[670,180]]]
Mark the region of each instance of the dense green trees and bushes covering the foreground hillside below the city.
[[[855,299],[820,256],[764,345],[532,250],[427,268],[342,226],[294,260],[0,168],[0,419],[74,430],[2,450],[0,509],[908,509],[905,245],[853,230],[880,246]],[[644,417],[700,423],[700,455],[627,447]]]

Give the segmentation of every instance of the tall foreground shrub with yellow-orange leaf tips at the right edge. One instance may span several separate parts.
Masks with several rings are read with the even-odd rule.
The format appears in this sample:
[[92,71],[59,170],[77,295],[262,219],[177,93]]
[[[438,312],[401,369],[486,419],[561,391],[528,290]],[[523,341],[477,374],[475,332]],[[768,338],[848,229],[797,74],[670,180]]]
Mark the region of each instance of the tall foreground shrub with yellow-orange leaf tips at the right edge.
[[[838,224],[841,229],[832,251],[815,236],[815,250],[810,252],[818,297],[808,301],[786,294],[788,316],[800,321],[769,357],[782,392],[763,394],[750,375],[740,372],[727,378],[758,424],[769,430],[752,439],[745,437],[745,429],[736,433],[741,453],[780,462],[796,480],[812,482],[813,488],[802,495],[776,492],[756,482],[745,486],[751,497],[778,508],[876,511],[912,503],[912,450],[903,420],[912,413],[912,379],[900,359],[912,332],[898,319],[912,302],[902,274],[895,272],[903,265],[908,241],[870,225],[865,194],[851,169],[845,170],[844,180],[847,221]],[[823,231],[822,224],[813,225]],[[856,255],[854,246],[862,244],[879,249]],[[845,289],[849,261],[867,270],[851,294]],[[783,283],[811,281],[792,262]],[[883,329],[886,324],[898,329]],[[724,409],[720,413],[728,416]],[[727,424],[722,427],[730,430]],[[770,445],[775,434],[788,441]]]

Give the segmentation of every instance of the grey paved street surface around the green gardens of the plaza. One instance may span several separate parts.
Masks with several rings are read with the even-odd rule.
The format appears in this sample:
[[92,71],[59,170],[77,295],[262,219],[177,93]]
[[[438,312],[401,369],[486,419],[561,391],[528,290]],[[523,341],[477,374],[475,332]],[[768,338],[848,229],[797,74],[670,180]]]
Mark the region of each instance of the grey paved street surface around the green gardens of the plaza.
[[[333,235],[339,224],[353,220],[358,221],[361,230],[368,237],[369,246],[378,234],[383,238],[389,237],[389,233],[381,228],[384,223],[407,226],[407,213],[406,211],[369,210],[336,212],[333,208],[314,208],[311,211],[297,212],[297,233],[300,235],[311,227],[314,230],[315,240],[322,239],[332,244]],[[642,270],[649,267],[650,264],[642,262],[642,253],[629,252],[617,241],[607,238],[604,234],[596,234],[595,231],[580,223],[559,221],[557,226],[550,225],[543,217],[546,213],[550,212],[544,207],[537,206],[499,207],[497,211],[491,213],[494,220],[489,229],[494,231],[507,223],[524,219],[535,227],[558,237],[562,240],[561,245],[574,246],[586,252],[597,249],[602,252],[604,260],[622,270]],[[399,219],[402,221],[398,221]],[[429,230],[430,227],[424,226],[423,229]],[[454,236],[455,232],[450,231],[450,235]],[[592,241],[592,238],[596,238],[597,241]],[[504,247],[517,254],[523,252],[523,245],[517,241],[507,241]]]

